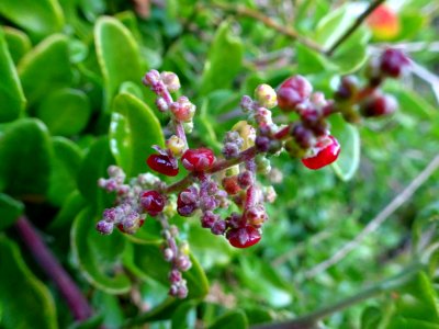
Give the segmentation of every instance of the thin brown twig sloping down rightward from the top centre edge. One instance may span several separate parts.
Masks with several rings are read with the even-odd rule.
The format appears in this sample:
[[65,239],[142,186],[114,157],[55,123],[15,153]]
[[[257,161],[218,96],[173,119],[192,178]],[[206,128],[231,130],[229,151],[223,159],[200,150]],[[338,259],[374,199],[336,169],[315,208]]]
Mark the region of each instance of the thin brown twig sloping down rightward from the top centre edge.
[[286,25],[279,24],[278,22],[270,19],[269,16],[266,16],[264,14],[262,14],[256,10],[252,10],[250,8],[247,8],[245,5],[241,5],[241,4],[236,5],[236,4],[228,4],[228,3],[209,3],[209,4],[200,4],[200,5],[201,5],[201,8],[204,5],[211,7],[211,8],[217,8],[217,9],[224,10],[224,11],[235,13],[240,16],[247,16],[250,19],[255,19],[255,20],[263,23],[266,26],[271,27],[271,29],[278,31],[279,33],[282,33],[282,34],[297,41],[299,43],[307,46],[308,48],[314,49],[318,53],[323,53],[320,45],[313,42],[312,39],[308,39],[308,38],[302,36],[294,29],[289,27]]

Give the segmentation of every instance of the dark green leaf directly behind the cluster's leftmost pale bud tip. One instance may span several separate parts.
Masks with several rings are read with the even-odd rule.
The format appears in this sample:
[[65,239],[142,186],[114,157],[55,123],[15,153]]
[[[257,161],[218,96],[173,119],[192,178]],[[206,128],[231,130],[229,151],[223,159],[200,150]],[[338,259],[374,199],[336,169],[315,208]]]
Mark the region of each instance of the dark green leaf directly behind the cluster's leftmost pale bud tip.
[[114,163],[110,152],[109,138],[97,139],[86,154],[78,171],[78,189],[95,212],[110,203],[111,195],[98,186],[100,178],[108,178],[106,169]]

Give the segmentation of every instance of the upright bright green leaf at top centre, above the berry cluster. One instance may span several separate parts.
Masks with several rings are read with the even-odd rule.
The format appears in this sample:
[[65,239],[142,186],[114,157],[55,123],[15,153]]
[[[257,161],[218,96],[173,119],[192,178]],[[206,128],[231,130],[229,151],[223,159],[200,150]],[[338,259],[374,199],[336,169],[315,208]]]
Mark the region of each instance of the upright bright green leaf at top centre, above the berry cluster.
[[217,89],[229,89],[243,67],[243,42],[232,32],[232,23],[224,22],[216,31],[204,65],[200,94]]

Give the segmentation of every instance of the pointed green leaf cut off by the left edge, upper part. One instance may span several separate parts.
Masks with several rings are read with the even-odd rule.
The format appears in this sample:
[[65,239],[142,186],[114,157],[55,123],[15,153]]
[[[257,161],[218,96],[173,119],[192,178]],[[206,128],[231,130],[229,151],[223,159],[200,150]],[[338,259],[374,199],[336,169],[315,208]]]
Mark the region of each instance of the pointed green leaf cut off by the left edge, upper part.
[[26,103],[2,29],[0,29],[0,123],[2,123],[18,118]]

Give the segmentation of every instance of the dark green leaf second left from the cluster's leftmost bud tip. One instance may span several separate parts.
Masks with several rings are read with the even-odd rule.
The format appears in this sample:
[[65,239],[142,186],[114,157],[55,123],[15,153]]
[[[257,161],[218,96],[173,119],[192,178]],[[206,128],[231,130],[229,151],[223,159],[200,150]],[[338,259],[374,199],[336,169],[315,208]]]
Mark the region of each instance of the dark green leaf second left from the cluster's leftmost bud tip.
[[64,137],[54,137],[52,145],[54,158],[47,197],[54,205],[61,206],[71,191],[77,189],[76,179],[82,154],[75,143]]

